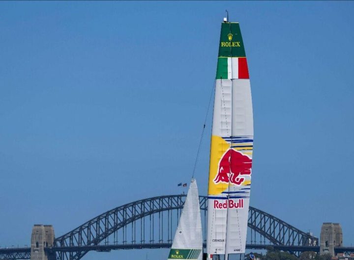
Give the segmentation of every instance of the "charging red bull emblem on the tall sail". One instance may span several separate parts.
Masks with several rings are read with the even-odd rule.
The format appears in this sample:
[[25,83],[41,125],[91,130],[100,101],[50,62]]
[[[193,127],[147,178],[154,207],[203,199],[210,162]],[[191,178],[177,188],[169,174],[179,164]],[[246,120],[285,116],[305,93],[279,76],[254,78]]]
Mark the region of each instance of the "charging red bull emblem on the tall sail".
[[240,186],[245,181],[244,176],[251,175],[251,168],[252,158],[230,148],[219,161],[214,183],[230,182]]

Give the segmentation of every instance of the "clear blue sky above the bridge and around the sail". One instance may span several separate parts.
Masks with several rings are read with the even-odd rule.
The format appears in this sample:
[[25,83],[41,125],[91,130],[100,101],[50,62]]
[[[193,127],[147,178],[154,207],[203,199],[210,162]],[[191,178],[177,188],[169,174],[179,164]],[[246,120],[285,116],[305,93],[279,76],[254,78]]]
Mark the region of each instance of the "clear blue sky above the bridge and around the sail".
[[354,2],[2,1],[0,246],[29,244],[36,223],[59,236],[108,209],[180,192],[225,9],[240,22],[251,78],[251,205],[317,236],[322,222],[339,222],[354,244]]

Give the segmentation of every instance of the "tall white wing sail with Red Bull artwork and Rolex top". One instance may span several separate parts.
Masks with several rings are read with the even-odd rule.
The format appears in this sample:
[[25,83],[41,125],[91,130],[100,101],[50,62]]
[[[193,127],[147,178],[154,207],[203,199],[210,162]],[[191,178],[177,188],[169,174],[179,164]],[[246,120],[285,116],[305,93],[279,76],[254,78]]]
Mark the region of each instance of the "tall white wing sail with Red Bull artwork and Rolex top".
[[227,18],[221,24],[210,146],[207,259],[227,260],[245,252],[253,151],[247,59],[240,26]]

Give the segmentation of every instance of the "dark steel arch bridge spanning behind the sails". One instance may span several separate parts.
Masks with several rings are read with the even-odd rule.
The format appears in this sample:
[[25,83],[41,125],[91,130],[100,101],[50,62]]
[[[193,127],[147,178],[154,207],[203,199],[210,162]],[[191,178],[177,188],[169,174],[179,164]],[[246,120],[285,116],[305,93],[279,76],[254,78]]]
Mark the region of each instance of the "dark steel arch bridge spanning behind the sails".
[[[50,260],[80,260],[89,251],[170,248],[186,195],[152,197],[113,208],[55,238],[46,251]],[[200,196],[206,237],[207,197]],[[299,254],[319,251],[317,237],[257,208],[248,214],[247,248],[274,248]],[[204,241],[205,243],[206,241]],[[0,250],[1,251],[1,250]],[[0,252],[1,259],[29,259],[30,248]]]

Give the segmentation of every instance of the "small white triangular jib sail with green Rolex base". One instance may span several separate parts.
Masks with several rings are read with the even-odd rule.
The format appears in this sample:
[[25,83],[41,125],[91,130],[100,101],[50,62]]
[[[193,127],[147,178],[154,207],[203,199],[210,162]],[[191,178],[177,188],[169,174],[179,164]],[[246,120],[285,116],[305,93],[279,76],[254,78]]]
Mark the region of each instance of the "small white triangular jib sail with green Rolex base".
[[202,221],[197,181],[192,179],[168,260],[203,258]]

